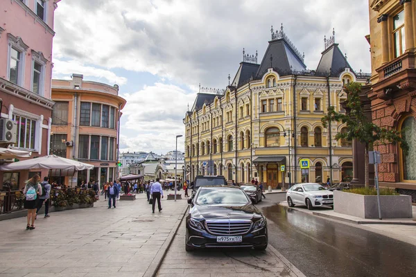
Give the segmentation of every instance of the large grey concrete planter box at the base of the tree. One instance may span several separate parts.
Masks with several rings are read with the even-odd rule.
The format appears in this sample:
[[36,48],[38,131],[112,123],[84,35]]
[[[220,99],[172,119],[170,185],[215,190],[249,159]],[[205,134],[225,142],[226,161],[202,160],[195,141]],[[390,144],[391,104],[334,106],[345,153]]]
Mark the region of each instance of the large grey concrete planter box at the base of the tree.
[[[410,195],[381,195],[381,217],[412,218],[412,197]],[[377,219],[379,206],[376,195],[357,195],[333,191],[333,211],[355,217]]]

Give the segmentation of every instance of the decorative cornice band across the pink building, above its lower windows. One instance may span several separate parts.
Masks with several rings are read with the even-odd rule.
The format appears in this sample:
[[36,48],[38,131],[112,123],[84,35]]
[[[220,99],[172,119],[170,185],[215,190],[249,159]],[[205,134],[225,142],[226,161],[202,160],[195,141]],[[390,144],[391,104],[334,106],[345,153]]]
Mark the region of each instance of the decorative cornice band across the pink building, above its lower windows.
[[53,102],[52,100],[44,98],[43,96],[33,93],[32,91],[28,91],[27,89],[24,89],[22,87],[19,87],[17,84],[13,84],[12,82],[9,82],[8,80],[5,80],[3,78],[0,78],[0,91],[8,93],[12,96],[19,97],[28,102],[33,102],[36,105],[39,105],[46,109],[52,109],[53,105],[55,104],[55,102]]

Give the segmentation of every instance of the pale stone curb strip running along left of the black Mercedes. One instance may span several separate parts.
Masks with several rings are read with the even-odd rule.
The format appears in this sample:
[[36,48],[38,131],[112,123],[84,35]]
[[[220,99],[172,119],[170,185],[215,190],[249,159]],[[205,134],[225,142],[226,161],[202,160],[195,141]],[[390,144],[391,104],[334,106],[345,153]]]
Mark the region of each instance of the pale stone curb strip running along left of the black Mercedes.
[[152,262],[150,262],[150,265],[146,272],[144,273],[143,277],[153,277],[156,276],[157,271],[159,270],[160,265],[162,265],[162,261],[164,260],[164,257],[166,256],[166,253],[168,253],[169,247],[171,247],[171,244],[173,242],[173,238],[175,238],[175,235],[177,233],[177,230],[180,227],[180,224],[182,224],[182,220],[184,220],[185,213],[187,213],[189,208],[189,205],[187,205],[182,212],[180,213],[175,225],[173,226],[173,231],[168,235],[168,238],[166,238],[164,244],[162,244],[162,247],[160,247],[159,251],[157,251],[157,254]]

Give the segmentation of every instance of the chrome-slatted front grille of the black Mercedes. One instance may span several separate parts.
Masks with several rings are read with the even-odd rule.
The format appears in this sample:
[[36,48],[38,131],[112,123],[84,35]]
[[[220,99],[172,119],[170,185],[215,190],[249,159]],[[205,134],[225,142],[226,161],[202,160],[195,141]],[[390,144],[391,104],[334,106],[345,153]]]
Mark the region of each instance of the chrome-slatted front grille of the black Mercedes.
[[209,220],[207,231],[214,235],[243,235],[250,231],[251,220]]

